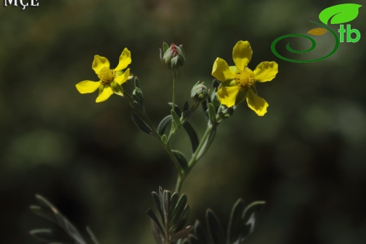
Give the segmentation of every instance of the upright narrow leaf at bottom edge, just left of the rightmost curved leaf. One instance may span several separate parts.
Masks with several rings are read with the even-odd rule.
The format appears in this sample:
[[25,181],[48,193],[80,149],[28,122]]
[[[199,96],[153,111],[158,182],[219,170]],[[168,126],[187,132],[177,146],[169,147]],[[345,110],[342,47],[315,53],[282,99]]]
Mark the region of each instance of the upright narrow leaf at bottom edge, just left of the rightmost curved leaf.
[[241,214],[244,212],[244,201],[239,199],[232,207],[230,214],[229,226],[227,226],[227,243],[239,243],[241,233],[239,227],[241,226]]

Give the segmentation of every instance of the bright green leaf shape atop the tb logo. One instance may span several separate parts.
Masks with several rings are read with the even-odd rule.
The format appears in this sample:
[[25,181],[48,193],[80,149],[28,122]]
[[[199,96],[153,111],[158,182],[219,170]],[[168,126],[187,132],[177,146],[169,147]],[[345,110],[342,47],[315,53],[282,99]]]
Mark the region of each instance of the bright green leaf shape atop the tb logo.
[[358,15],[360,4],[339,4],[329,8],[325,8],[319,14],[319,19],[325,25],[328,25],[328,20],[331,24],[342,24],[354,20]]

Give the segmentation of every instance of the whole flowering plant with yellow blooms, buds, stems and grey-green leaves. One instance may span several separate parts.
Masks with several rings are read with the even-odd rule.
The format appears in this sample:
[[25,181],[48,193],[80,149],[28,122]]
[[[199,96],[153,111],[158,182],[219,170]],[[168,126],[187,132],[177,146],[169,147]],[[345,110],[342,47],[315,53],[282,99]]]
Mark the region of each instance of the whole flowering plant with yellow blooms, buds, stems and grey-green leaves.
[[[214,79],[212,89],[208,89],[203,82],[197,82],[191,89],[191,105],[187,101],[180,108],[175,102],[175,86],[177,72],[186,62],[186,57],[182,45],[168,46],[164,43],[163,49],[160,49],[160,60],[172,72],[172,102],[170,114],[166,115],[157,127],[151,122],[144,107],[144,94],[139,79],[130,76],[130,69],[127,68],[132,62],[128,49],[122,51],[119,63],[114,69],[111,69],[107,58],[94,56],[92,69],[98,75],[99,82],[84,80],[76,84],[77,91],[81,94],[99,90],[96,103],[106,101],[112,94],[127,98],[132,107],[131,115],[134,123],[141,131],[153,136],[160,143],[177,169],[175,191],[171,193],[159,187],[157,192],[152,192],[158,214],[151,209],[146,212],[151,218],[153,238],[157,244],[242,243],[253,232],[256,223],[255,213],[264,205],[263,201],[246,206],[243,200],[237,200],[232,207],[227,231],[222,228],[216,214],[212,210],[207,210],[206,231],[199,221],[187,225],[191,207],[187,205],[187,195],[181,193],[182,184],[187,176],[215,139],[217,127],[222,121],[232,117],[236,105],[246,98],[249,108],[257,115],[263,116],[267,112],[268,104],[257,95],[255,82],[272,80],[278,72],[278,65],[275,62],[262,62],[252,71],[247,67],[251,56],[249,42],[238,41],[233,50],[235,66],[227,65],[221,58],[217,58],[213,64],[212,75],[221,83]],[[122,84],[129,79],[133,79],[134,88],[132,91],[125,91]],[[198,138],[190,122],[192,115],[200,106],[206,117],[206,130],[201,139]],[[177,136],[179,129],[184,129],[189,136],[192,149],[189,158],[177,148],[172,148],[172,139]],[[37,195],[36,200],[39,205],[32,205],[31,209],[36,214],[56,222],[61,227],[62,237],[59,231],[52,229],[35,229],[30,232],[32,236],[46,243],[87,243],[80,231],[49,200],[42,195]],[[96,236],[89,227],[87,231],[93,243],[98,244]]]

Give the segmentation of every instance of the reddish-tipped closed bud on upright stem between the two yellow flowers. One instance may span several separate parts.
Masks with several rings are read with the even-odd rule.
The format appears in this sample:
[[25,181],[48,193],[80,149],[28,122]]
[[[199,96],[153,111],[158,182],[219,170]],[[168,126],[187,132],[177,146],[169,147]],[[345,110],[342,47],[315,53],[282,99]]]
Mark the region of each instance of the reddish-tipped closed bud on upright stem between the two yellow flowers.
[[183,46],[177,46],[175,44],[168,46],[168,44],[164,42],[163,51],[160,49],[160,60],[167,65],[170,70],[178,70],[186,63]]

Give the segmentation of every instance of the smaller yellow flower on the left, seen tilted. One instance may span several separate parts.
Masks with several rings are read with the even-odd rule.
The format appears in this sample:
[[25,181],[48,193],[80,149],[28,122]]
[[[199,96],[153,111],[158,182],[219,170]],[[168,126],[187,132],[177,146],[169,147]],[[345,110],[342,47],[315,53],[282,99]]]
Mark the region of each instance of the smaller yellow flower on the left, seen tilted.
[[106,101],[113,93],[123,96],[121,84],[126,82],[130,69],[125,68],[132,62],[131,52],[125,48],[120,55],[120,62],[115,69],[111,69],[107,58],[99,55],[94,56],[92,69],[99,77],[99,82],[84,80],[76,84],[76,89],[81,94],[89,94],[99,89],[99,96],[96,98],[96,103]]

